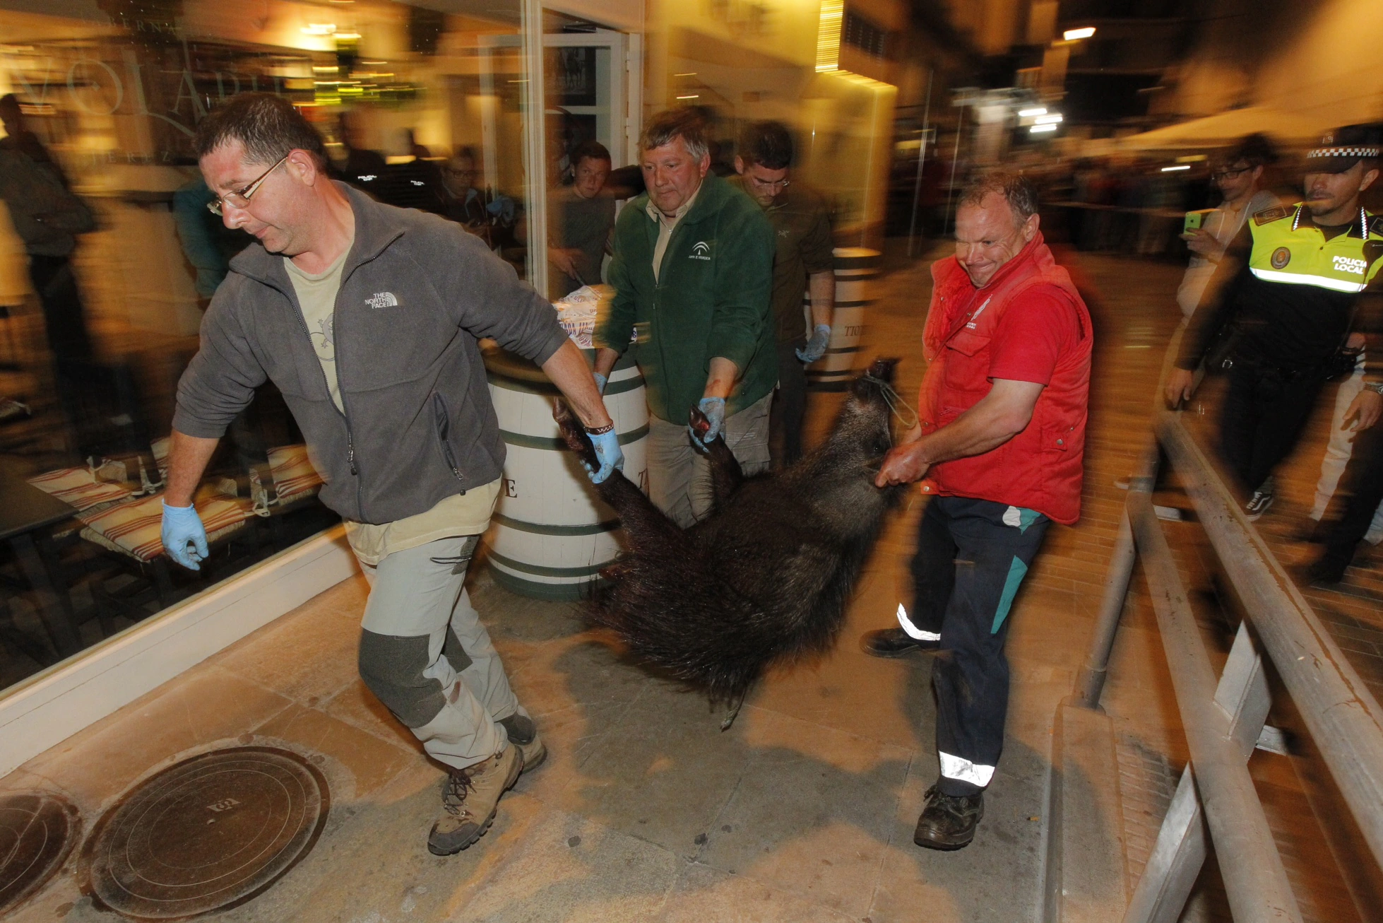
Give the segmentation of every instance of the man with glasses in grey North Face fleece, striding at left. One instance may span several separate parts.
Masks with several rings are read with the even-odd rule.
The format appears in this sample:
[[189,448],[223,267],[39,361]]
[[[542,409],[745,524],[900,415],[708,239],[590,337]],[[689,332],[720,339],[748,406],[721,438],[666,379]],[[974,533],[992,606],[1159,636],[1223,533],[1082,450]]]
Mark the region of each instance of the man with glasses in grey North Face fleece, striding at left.
[[329,180],[285,100],[234,97],[196,147],[212,210],[259,244],[231,260],[178,383],[163,545],[205,558],[192,494],[271,378],[371,580],[361,678],[448,769],[427,847],[458,852],[545,756],[463,588],[505,458],[477,339],[542,365],[592,433],[593,480],[622,465],[614,425],[550,304],[459,226]]

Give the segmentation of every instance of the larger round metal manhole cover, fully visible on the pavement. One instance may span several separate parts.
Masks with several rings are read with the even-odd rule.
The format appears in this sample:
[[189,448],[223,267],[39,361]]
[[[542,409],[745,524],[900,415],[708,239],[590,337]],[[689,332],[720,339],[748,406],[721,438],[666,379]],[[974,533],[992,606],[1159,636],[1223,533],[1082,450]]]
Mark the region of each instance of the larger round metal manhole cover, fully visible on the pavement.
[[326,823],[326,779],[296,753],[234,747],[129,792],[87,841],[91,893],[133,917],[177,919],[266,891]]

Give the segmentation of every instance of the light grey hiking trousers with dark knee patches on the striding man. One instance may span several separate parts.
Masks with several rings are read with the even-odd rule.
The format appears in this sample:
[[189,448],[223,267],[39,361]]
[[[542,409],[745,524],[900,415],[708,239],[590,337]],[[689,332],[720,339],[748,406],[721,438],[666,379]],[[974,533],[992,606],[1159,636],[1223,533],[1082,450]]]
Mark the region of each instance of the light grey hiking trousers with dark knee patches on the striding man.
[[361,621],[361,678],[429,756],[456,768],[502,750],[498,718],[517,710],[462,587],[477,541],[458,536],[386,556]]

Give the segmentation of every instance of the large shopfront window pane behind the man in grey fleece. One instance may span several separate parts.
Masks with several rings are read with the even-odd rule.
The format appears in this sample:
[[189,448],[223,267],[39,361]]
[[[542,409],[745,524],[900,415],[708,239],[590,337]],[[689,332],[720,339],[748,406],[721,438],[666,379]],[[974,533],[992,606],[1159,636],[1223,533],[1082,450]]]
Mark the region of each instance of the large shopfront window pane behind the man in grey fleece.
[[[224,98],[290,100],[336,177],[532,271],[517,0],[64,10],[0,4],[0,689],[337,519],[266,383],[198,490],[203,570],[159,542],[177,382],[252,244],[206,209],[192,152]],[[610,131],[610,98],[585,98],[573,112]]]

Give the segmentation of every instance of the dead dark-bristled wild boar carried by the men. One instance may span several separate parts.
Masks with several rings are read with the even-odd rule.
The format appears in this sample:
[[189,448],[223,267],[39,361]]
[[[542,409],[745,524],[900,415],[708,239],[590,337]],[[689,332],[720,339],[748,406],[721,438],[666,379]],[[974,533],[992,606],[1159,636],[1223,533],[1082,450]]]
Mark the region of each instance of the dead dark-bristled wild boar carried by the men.
[[[740,702],[777,660],[831,648],[859,569],[902,488],[874,476],[892,446],[885,386],[896,360],[851,385],[826,443],[783,472],[743,477],[725,440],[708,446],[712,511],[682,530],[621,472],[596,487],[629,552],[589,617],[712,700]],[[591,440],[559,401],[566,443],[595,465]],[[692,412],[705,432],[705,418]]]

